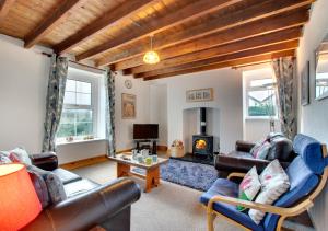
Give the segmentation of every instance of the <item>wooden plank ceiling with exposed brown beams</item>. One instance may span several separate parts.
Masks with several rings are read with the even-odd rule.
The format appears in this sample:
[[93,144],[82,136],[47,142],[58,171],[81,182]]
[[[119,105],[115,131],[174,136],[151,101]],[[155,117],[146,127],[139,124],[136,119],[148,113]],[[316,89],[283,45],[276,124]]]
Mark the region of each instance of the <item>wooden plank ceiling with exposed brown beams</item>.
[[[294,56],[313,2],[0,0],[0,33],[154,80]],[[151,35],[156,65],[142,60]]]

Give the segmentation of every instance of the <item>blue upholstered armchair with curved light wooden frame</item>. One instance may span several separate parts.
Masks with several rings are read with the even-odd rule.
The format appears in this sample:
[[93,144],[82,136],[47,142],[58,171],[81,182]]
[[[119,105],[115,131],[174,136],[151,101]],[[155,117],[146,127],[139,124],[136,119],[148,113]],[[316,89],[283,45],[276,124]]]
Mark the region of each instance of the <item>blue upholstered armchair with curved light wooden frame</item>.
[[[200,203],[207,208],[208,230],[213,231],[216,216],[223,217],[246,230],[281,230],[283,220],[302,213],[313,206],[313,200],[323,190],[328,176],[328,158],[325,145],[297,135],[293,142],[296,157],[286,169],[291,187],[272,206],[238,199],[238,184],[231,177],[243,177],[243,173],[232,173],[227,178],[218,178],[212,187],[202,194]],[[267,212],[256,224],[248,213],[241,212],[236,206]]]

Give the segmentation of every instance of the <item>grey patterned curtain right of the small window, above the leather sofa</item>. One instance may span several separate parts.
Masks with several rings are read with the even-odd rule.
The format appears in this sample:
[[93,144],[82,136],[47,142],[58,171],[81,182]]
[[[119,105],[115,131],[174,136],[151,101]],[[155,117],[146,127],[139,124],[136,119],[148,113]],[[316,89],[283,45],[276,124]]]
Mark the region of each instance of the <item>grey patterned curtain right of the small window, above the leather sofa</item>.
[[294,82],[294,58],[283,57],[272,60],[277,79],[278,106],[282,132],[293,139],[297,132],[296,94]]

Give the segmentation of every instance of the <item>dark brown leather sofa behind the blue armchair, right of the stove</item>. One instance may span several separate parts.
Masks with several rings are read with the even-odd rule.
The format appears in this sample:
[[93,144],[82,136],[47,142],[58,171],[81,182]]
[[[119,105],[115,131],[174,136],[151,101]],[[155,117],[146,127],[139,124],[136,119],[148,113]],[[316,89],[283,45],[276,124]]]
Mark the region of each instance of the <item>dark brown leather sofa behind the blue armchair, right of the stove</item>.
[[214,165],[220,172],[221,177],[227,176],[231,172],[248,172],[253,166],[256,166],[260,173],[274,159],[278,159],[282,168],[288,168],[290,162],[294,159],[292,141],[282,135],[269,135],[272,148],[268,153],[266,160],[255,159],[249,152],[255,146],[253,142],[236,141],[235,150],[227,154],[218,154],[214,160]]

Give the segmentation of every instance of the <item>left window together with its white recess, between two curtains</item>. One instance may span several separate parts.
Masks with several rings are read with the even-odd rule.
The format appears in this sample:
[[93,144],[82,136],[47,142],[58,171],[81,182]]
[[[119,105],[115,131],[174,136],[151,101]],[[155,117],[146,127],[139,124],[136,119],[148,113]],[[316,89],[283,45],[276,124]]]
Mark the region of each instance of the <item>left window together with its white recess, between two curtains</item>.
[[57,142],[98,137],[99,77],[69,68]]

